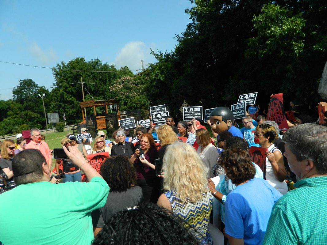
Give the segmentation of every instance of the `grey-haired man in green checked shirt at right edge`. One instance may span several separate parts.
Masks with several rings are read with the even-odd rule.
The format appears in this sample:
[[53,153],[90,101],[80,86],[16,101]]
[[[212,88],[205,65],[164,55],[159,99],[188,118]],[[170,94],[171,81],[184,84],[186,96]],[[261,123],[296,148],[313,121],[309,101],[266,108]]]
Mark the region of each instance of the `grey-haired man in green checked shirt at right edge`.
[[327,244],[327,127],[300,124],[283,140],[301,180],[274,205],[263,244]]

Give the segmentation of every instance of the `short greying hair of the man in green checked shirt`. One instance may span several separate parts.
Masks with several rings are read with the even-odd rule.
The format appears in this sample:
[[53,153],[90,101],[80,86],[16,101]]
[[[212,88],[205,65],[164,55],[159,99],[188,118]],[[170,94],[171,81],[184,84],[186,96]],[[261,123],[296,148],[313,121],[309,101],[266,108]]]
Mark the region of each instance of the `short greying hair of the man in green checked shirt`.
[[304,123],[288,129],[283,141],[297,161],[312,160],[319,174],[327,173],[327,127]]

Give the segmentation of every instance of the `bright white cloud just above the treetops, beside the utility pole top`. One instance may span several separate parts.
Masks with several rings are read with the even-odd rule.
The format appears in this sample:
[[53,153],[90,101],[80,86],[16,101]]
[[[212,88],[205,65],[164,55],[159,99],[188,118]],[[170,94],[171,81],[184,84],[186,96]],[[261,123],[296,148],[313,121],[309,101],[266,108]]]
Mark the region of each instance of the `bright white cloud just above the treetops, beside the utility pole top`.
[[141,69],[141,59],[145,59],[145,53],[148,53],[148,48],[144,42],[136,41],[126,43],[119,51],[115,59],[117,69],[128,66],[129,69]]

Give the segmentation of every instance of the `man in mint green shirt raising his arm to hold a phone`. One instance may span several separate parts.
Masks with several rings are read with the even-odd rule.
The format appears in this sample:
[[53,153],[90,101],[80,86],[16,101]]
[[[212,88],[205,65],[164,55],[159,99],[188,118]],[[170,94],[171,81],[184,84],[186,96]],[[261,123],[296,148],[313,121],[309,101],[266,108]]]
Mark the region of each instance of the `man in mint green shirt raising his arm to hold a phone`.
[[91,244],[91,211],[106,204],[109,187],[77,147],[63,149],[89,183],[50,183],[49,167],[41,152],[19,152],[12,161],[18,186],[0,195],[3,244]]

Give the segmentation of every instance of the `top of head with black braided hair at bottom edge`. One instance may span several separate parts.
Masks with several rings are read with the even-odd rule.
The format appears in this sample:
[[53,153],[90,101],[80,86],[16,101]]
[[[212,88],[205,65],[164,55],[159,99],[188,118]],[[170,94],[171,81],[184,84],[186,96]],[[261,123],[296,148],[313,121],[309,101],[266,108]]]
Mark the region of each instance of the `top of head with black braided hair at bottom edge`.
[[187,224],[155,204],[130,207],[112,216],[92,245],[196,245]]

